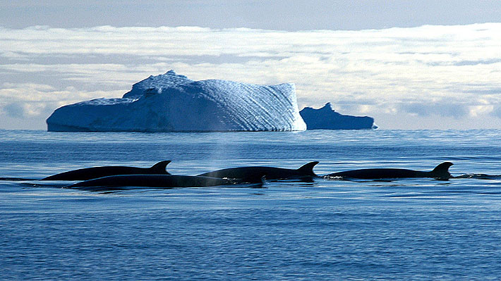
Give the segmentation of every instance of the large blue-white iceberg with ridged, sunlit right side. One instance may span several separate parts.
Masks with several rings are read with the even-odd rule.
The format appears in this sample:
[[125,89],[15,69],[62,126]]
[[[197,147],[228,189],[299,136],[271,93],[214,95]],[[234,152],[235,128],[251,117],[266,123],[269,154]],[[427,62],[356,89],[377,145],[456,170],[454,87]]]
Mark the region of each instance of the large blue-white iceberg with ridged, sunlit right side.
[[121,99],[57,108],[49,131],[183,132],[306,130],[294,84],[194,81],[173,70],[133,85]]

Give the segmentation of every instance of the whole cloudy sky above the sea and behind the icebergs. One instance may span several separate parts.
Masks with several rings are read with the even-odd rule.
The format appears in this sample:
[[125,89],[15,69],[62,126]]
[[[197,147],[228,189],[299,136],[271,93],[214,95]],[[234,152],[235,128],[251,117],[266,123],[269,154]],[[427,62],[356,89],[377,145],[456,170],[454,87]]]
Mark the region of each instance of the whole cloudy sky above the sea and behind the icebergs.
[[171,69],[381,129],[501,129],[501,1],[0,1],[0,129]]

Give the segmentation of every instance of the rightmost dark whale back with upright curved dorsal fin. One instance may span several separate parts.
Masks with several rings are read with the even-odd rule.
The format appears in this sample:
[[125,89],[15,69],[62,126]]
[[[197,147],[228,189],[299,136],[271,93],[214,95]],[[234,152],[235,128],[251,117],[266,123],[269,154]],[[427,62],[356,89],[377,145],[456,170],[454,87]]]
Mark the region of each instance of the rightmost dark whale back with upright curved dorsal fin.
[[449,173],[449,167],[454,164],[450,162],[440,163],[430,172],[420,170],[394,169],[394,168],[371,168],[359,170],[346,170],[344,172],[325,175],[325,178],[352,178],[364,180],[377,179],[396,179],[406,177],[432,177],[440,180],[449,179],[452,175]]

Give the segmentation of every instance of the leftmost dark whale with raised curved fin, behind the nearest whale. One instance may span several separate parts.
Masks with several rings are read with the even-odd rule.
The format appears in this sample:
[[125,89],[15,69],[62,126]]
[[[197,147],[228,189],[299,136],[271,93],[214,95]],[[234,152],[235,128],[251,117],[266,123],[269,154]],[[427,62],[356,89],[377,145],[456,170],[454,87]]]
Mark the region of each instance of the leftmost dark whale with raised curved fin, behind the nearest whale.
[[170,175],[165,168],[171,161],[160,161],[150,168],[136,168],[127,166],[102,166],[83,168],[78,170],[70,170],[68,172],[59,173],[44,177],[42,180],[92,180],[98,177],[106,177],[109,175],[135,175],[135,174],[150,174],[150,175]]

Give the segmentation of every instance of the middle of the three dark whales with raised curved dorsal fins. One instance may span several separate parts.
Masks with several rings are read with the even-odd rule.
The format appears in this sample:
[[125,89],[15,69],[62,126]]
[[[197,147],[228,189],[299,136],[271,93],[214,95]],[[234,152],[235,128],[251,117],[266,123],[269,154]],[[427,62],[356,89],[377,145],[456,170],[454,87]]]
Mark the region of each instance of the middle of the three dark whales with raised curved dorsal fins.
[[240,179],[243,182],[261,182],[265,180],[303,180],[318,177],[313,173],[313,167],[318,161],[306,163],[297,169],[275,168],[266,166],[250,166],[239,168],[227,168],[215,170],[209,173],[203,173],[198,176],[219,177]]

